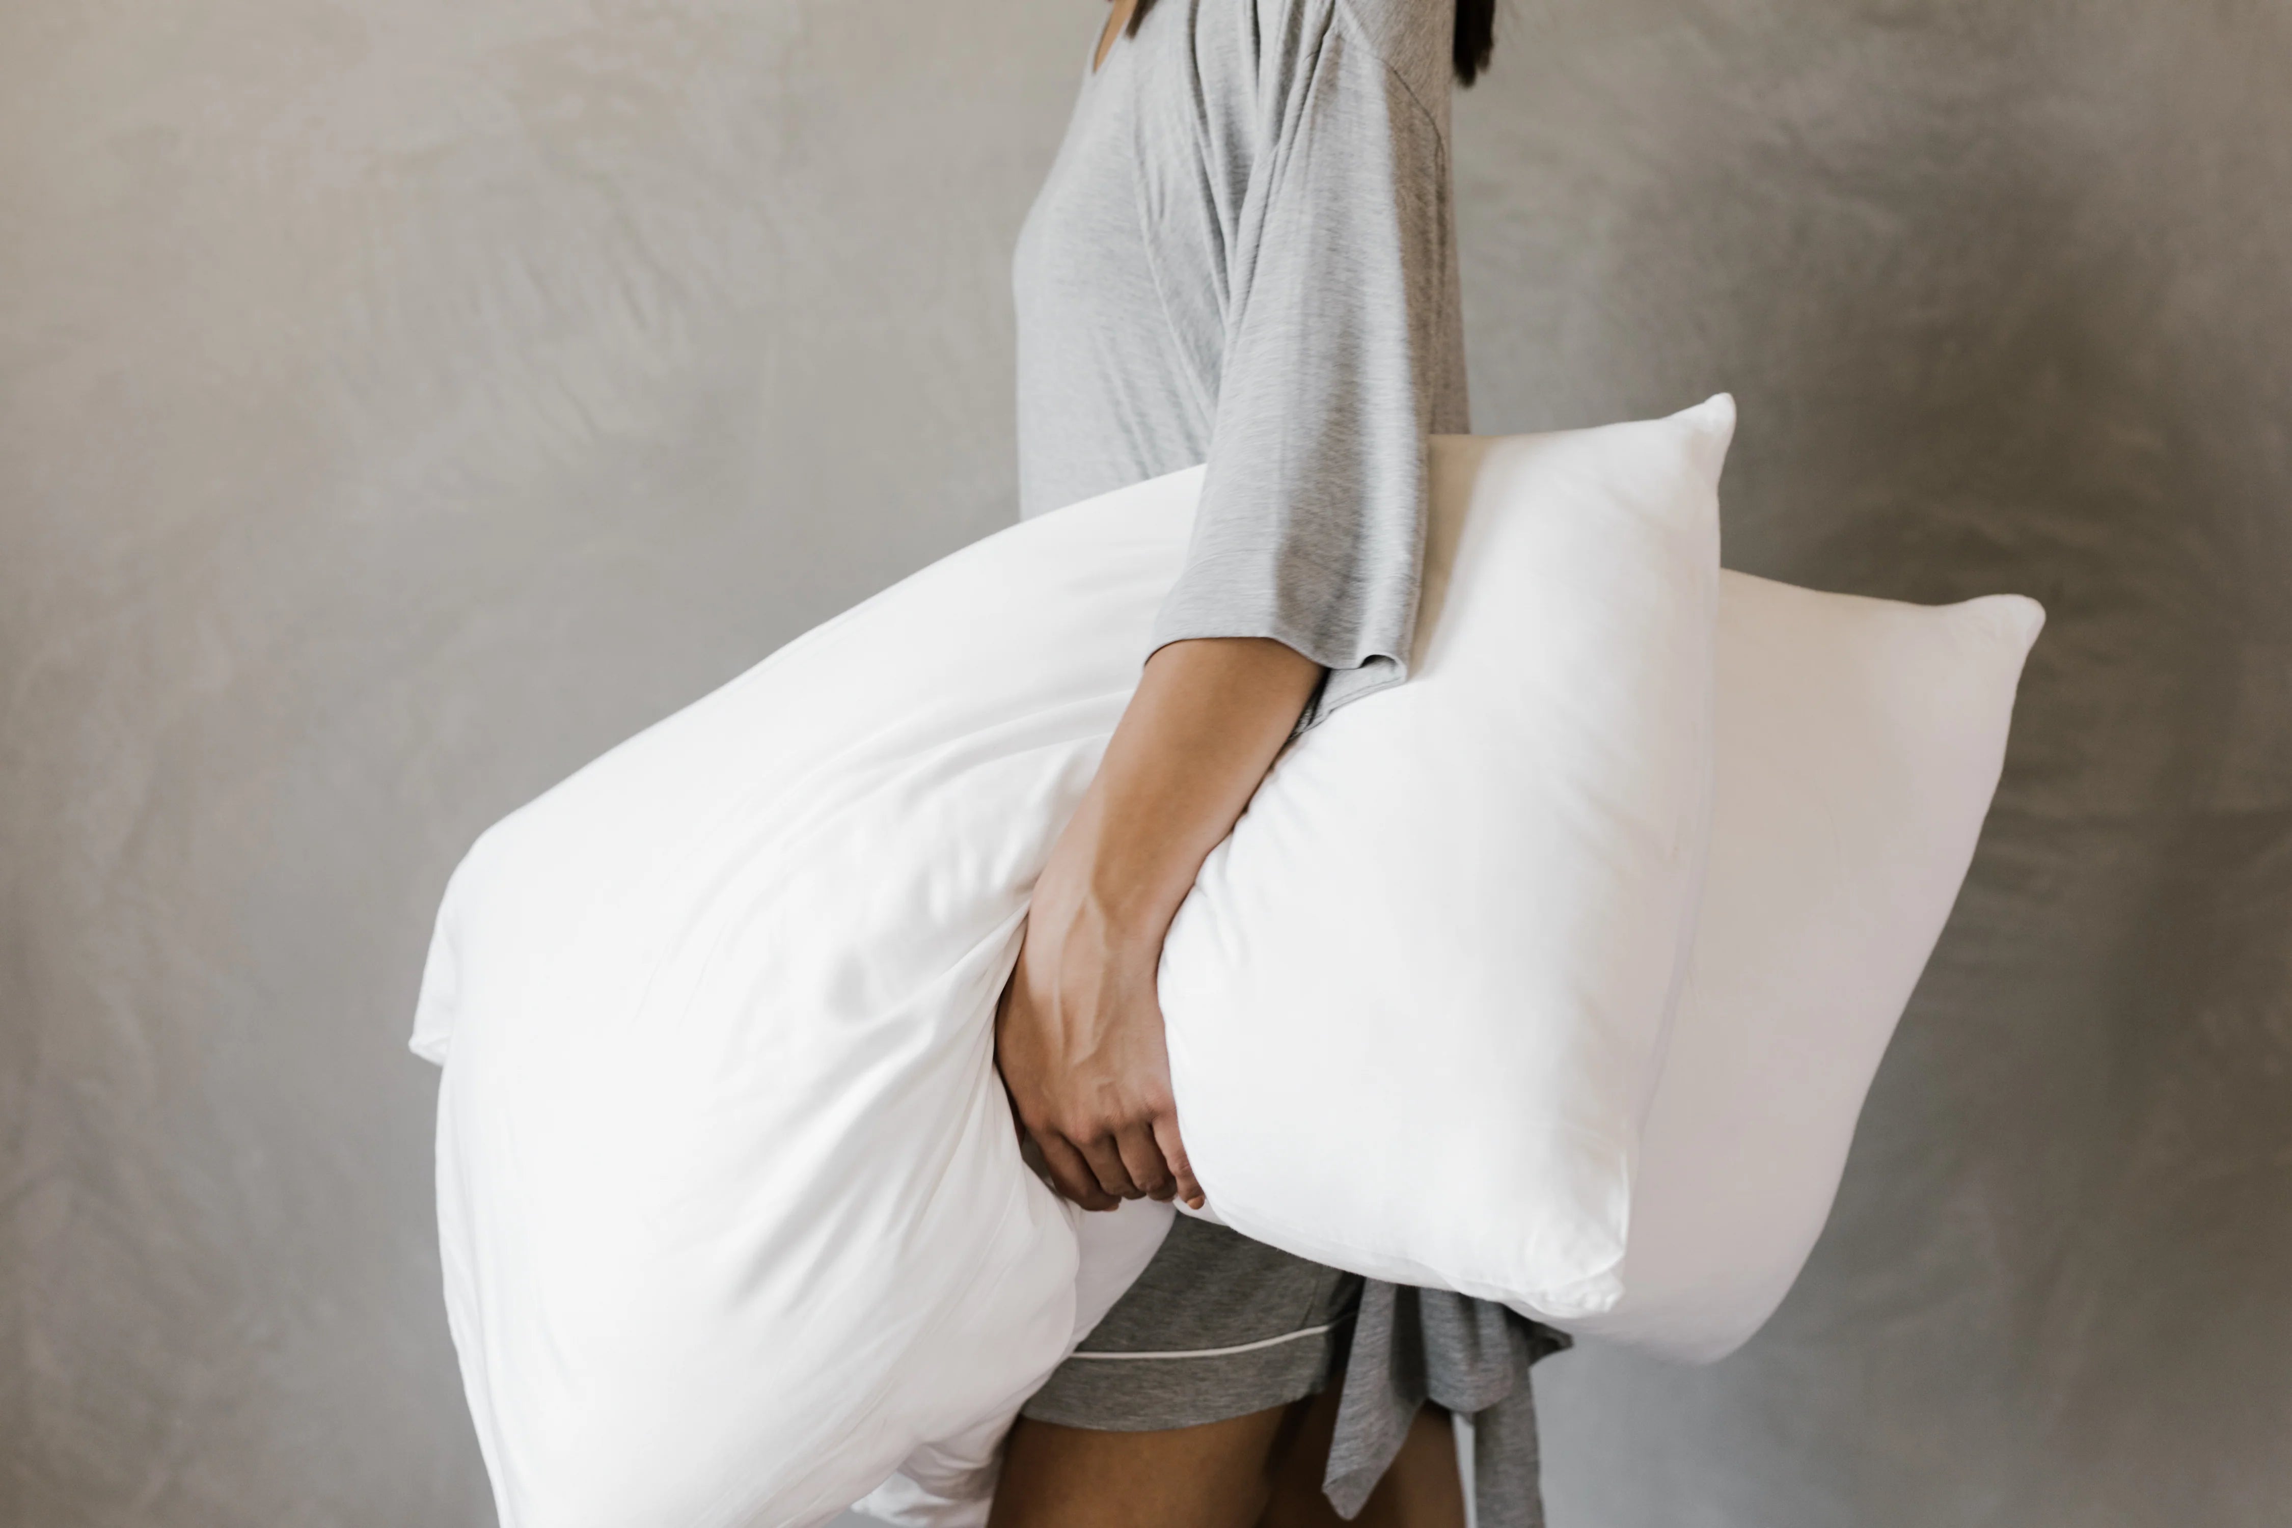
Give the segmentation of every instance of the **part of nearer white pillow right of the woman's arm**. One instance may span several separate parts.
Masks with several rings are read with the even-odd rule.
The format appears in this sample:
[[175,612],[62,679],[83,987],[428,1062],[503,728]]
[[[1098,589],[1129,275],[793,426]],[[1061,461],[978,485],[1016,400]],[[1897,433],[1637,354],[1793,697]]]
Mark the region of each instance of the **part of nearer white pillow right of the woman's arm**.
[[1235,1230],[1547,1313],[1620,1294],[1733,424],[1435,442],[1407,683],[1274,763],[1164,944],[1178,1125]]

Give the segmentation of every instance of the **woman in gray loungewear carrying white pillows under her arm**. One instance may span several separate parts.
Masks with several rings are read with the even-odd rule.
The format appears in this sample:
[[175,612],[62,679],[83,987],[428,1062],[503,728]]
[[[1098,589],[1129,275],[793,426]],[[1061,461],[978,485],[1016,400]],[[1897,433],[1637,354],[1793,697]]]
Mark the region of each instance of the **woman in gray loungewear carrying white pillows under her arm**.
[[[1485,66],[1490,11],[1114,0],[1020,234],[1020,513],[1210,463],[997,1019],[1031,1155],[1084,1207],[1203,1203],[1162,935],[1281,745],[1405,676],[1426,442],[1469,428],[1449,80]],[[1426,1395],[1481,1413],[1481,1523],[1513,1528],[1540,1517],[1524,1372],[1554,1345],[1180,1216],[1027,1404],[995,1528],[1334,1523],[1364,1498],[1359,1521],[1462,1528]]]

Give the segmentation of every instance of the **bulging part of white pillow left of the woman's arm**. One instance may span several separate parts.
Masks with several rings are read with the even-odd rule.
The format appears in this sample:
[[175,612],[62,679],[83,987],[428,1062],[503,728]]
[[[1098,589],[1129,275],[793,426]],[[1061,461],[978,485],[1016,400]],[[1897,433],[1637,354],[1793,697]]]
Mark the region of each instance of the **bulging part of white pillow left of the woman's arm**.
[[1096,1320],[992,1006],[1196,481],[924,568],[454,873],[415,1049],[445,1065],[445,1301],[504,1528],[814,1523],[901,1462],[988,1491]]

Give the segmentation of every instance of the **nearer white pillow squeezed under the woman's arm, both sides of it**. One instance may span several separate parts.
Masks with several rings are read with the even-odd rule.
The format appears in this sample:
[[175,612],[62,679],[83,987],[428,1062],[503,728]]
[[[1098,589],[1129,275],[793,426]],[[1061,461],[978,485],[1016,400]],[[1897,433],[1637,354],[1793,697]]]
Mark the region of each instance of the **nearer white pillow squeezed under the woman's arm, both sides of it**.
[[[1474,1155],[1444,1141],[1355,1155],[1380,1189],[1316,1200],[1334,1226],[1263,1230],[1368,1271],[1614,1299],[1705,836],[1730,426],[1714,399],[1435,444],[1419,678],[1293,749],[1180,914],[1164,983],[1203,1019],[1238,953],[1254,983],[1297,962],[1297,1013],[1343,1035],[1313,1061],[1336,1088],[1316,1134],[1394,1113],[1371,1132],[1400,1141],[1400,1116],[1432,1111],[1416,1123],[1513,1155],[1513,1203],[1458,1200],[1494,1226],[1460,1235],[1426,1203],[1428,1175]],[[1002,1418],[1082,1324],[1075,1214],[1020,1164],[992,1001],[1199,483],[926,568],[502,820],[456,871],[415,1049],[445,1063],[447,1310],[507,1528],[811,1523],[903,1464],[924,1496],[986,1491]],[[1279,896],[1284,854],[1311,896]],[[1533,880],[1575,884],[1517,889]],[[1421,905],[1449,884],[1476,903]],[[1559,928],[1522,932],[1526,914]],[[1410,997],[1389,974],[1412,939],[1485,971]],[[1350,953],[1361,980],[1327,980]],[[1421,1049],[1478,1056],[1382,1065],[1405,999],[1446,1008]],[[1206,1090],[1187,1022],[1180,1118],[1258,1232],[1233,1210],[1265,1203],[1261,1120],[1309,1118],[1284,1097],[1297,1058],[1258,1042],[1238,1063],[1272,1065],[1261,1086]]]

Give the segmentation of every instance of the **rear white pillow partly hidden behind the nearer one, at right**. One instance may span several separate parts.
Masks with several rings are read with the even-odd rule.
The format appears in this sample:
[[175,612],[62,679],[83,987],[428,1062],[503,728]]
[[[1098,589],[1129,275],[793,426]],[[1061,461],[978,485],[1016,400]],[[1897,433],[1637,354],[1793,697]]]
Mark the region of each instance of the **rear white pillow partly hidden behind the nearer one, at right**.
[[1973,857],[2044,612],[1719,580],[1719,793],[1623,1299],[1570,1331],[1714,1361],[1822,1232]]

